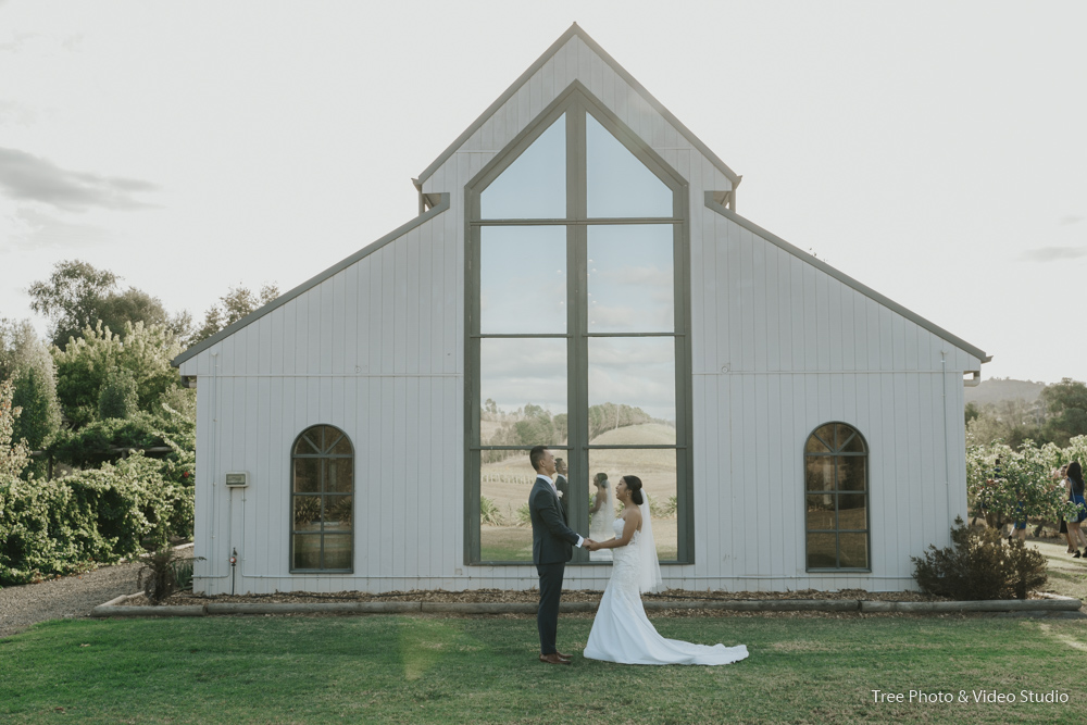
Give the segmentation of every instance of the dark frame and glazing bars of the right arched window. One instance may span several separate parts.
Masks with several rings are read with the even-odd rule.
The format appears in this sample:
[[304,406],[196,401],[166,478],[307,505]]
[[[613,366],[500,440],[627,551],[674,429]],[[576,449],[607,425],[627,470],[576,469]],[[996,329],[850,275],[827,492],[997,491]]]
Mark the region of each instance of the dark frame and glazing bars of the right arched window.
[[[833,440],[830,440],[830,441],[824,440],[824,436],[820,436],[819,434],[820,434],[821,430],[825,430],[828,426],[845,426],[846,428],[848,428],[849,430],[852,432],[852,435],[839,439],[838,436],[837,436],[837,434],[835,434],[834,436],[830,436],[833,438]],[[811,448],[813,448],[813,446],[812,446],[813,439],[817,440],[823,447],[826,448],[826,450],[824,450],[824,451],[820,451],[820,450],[812,451],[812,450],[810,450]],[[860,449],[861,450],[859,450],[859,451],[848,450],[850,448],[850,443],[852,443],[854,440],[857,440],[857,441],[860,442]],[[801,449],[801,452],[802,452],[802,457],[803,457],[803,472],[804,472],[804,476],[803,476],[803,480],[802,480],[802,485],[801,485],[801,489],[802,489],[801,496],[803,496],[803,510],[804,510],[804,564],[805,564],[805,571],[808,571],[808,572],[871,572],[872,571],[872,526],[871,526],[871,521],[870,521],[870,517],[871,517],[871,491],[870,491],[870,486],[869,486],[869,480],[870,480],[870,476],[869,476],[869,471],[870,471],[869,458],[870,458],[870,455],[869,455],[869,453],[870,453],[870,449],[869,449],[867,441],[864,439],[864,436],[857,428],[857,426],[854,426],[854,425],[852,425],[850,423],[845,423],[842,421],[829,421],[829,422],[826,422],[826,423],[821,423],[820,425],[815,426],[815,428],[808,435],[808,437],[804,438],[804,446]],[[844,489],[844,488],[839,487],[839,483],[841,480],[841,476],[839,476],[839,473],[840,473],[839,459],[844,459],[844,458],[855,458],[855,459],[862,459],[864,461],[864,466],[863,466],[863,488],[861,490],[858,490],[855,488],[853,488],[853,489]],[[829,488],[829,489],[810,489],[809,488],[808,477],[809,477],[809,472],[810,472],[810,464],[813,463],[814,460],[817,460],[817,459],[829,459],[830,460],[830,465],[834,466],[834,468],[833,468],[834,487],[833,488]],[[841,509],[839,508],[839,502],[840,502],[842,496],[850,496],[850,497],[863,496],[863,499],[862,499],[863,500],[863,509],[864,509],[864,527],[863,528],[855,528],[855,527],[854,528],[842,528],[842,526],[841,526],[842,522],[841,522],[841,516],[840,516]],[[810,509],[809,509],[809,507],[811,505],[811,500],[815,499],[815,498],[823,498],[824,500],[826,498],[830,498],[834,501],[834,527],[833,528],[829,528],[829,527],[827,527],[827,528],[812,528],[812,526],[811,526],[811,524],[812,524],[812,516],[810,515]],[[835,560],[835,564],[836,565],[835,566],[812,566],[811,565],[811,557],[812,557],[812,553],[813,553],[812,552],[812,539],[813,539],[813,535],[825,536],[827,534],[833,534],[834,538],[835,538],[834,560]],[[863,538],[864,538],[864,558],[865,558],[865,562],[864,562],[863,566],[844,566],[841,564],[841,562],[842,562],[842,557],[841,557],[841,535],[842,534],[847,534],[847,535],[849,535],[851,537],[857,537],[858,535],[863,535]]]

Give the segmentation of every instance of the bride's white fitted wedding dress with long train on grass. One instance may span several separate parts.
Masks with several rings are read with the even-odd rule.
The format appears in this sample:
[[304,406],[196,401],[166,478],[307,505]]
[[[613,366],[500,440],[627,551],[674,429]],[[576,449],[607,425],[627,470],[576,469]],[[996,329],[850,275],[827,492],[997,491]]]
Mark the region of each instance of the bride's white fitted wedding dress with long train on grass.
[[[612,524],[616,537],[623,535],[624,523],[616,518]],[[665,639],[657,633],[641,604],[644,538],[641,532],[635,532],[629,543],[611,550],[614,554],[611,579],[592,621],[584,655],[620,664],[730,664],[745,659],[748,655],[745,645],[694,645]],[[649,553],[655,559],[655,551]]]

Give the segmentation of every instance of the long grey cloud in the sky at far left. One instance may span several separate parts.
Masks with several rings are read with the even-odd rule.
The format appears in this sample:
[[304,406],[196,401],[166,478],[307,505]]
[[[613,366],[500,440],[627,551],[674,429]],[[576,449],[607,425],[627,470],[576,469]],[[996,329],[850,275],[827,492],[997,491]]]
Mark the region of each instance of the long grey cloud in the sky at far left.
[[133,195],[157,188],[140,179],[67,171],[25,151],[0,147],[0,192],[17,201],[37,201],[65,211],[96,207],[127,211],[153,207]]

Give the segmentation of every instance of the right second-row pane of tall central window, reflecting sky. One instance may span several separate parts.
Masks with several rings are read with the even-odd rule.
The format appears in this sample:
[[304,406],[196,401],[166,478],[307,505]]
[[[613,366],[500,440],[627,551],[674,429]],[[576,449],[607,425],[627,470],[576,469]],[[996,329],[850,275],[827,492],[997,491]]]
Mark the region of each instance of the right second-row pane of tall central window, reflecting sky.
[[671,333],[672,225],[590,226],[588,234],[589,329]]

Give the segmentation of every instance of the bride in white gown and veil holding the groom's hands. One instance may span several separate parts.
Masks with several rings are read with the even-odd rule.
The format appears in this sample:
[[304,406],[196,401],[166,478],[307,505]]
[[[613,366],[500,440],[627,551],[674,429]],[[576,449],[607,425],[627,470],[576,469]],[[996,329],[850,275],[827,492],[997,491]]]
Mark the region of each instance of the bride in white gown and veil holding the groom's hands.
[[661,637],[646,616],[641,591],[663,585],[649,505],[641,479],[623,476],[615,498],[624,504],[613,523],[615,538],[588,543],[590,551],[612,549],[614,566],[597,609],[584,655],[621,664],[729,664],[748,655],[747,647],[694,645]]

